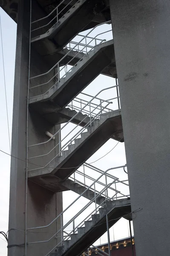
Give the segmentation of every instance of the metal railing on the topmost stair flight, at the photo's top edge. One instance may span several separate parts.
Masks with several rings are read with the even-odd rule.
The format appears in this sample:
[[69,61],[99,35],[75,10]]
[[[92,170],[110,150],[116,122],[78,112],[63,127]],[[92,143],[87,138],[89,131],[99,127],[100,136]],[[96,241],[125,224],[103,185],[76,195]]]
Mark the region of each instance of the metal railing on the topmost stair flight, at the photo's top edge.
[[[31,32],[33,32],[35,30],[38,30],[38,29],[42,29],[42,28],[44,28],[46,26],[49,26],[51,23],[52,23],[52,26],[54,26],[54,23],[58,23],[58,21],[61,18],[63,18],[64,15],[66,15],[68,12],[70,12],[70,10],[74,7],[74,5],[76,3],[80,2],[80,0],[76,1],[76,3],[74,3],[74,5],[72,7],[70,7],[69,10],[62,15],[62,12],[65,11],[65,9],[67,7],[69,7],[70,4],[73,3],[74,1],[75,0],[69,0],[69,3],[68,3],[68,0],[63,0],[63,1],[61,1],[61,3],[59,3],[58,6],[55,7],[55,9],[52,10],[52,12],[49,13],[49,15],[47,15],[46,17],[43,17],[43,18],[41,18],[39,20],[33,21],[31,24],[39,23],[40,21],[45,20],[45,19],[47,19],[47,18],[52,16],[52,19],[48,23],[46,23],[45,25],[40,26],[40,27],[38,27],[36,29],[32,29]],[[66,3],[66,5],[62,8],[62,5],[64,5],[64,3]]]

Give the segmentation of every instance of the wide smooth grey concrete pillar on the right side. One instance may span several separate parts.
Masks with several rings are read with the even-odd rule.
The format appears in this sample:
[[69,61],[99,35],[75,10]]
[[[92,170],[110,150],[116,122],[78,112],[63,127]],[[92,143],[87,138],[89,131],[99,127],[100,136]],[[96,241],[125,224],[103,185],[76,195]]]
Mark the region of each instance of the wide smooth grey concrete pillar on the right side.
[[137,256],[170,255],[170,1],[110,0]]

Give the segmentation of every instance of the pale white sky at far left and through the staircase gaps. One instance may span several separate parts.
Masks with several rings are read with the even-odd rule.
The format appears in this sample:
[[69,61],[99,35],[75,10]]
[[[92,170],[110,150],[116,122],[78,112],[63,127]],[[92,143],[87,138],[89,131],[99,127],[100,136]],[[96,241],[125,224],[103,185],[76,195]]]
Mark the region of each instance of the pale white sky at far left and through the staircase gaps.
[[[0,16],[2,23],[2,34],[3,34],[3,53],[5,63],[5,77],[6,77],[6,91],[7,91],[7,103],[9,112],[9,128],[10,134],[12,131],[12,107],[13,107],[13,84],[14,84],[14,62],[15,62],[15,47],[16,47],[16,30],[17,25],[14,21],[6,15],[6,13],[0,8]],[[108,34],[110,35],[110,34]],[[105,35],[106,36],[106,35]],[[100,37],[103,38],[103,37]],[[98,76],[85,90],[84,92],[95,96],[104,87],[110,87],[115,84],[115,79],[107,76]],[[110,96],[111,95],[111,96]],[[110,92],[104,92],[100,95],[102,99],[112,98]],[[114,109],[113,102],[113,109]],[[8,138],[8,126],[6,116],[6,101],[5,101],[5,87],[3,79],[3,61],[2,61],[2,47],[0,42],[0,150],[3,150],[10,154],[9,150],[9,138]],[[115,108],[116,109],[116,108]],[[66,129],[65,132],[68,132]],[[87,161],[91,163],[109,150],[111,150],[117,142],[110,139],[105,145],[103,145],[92,157]],[[108,168],[121,166],[126,163],[124,143],[118,143],[116,148],[111,151],[106,157],[98,160],[93,165],[103,169],[104,171]],[[9,178],[10,178],[10,157],[0,152],[0,231],[8,230],[8,211],[9,211]],[[127,175],[121,170],[112,172],[112,175],[121,179],[127,179]],[[63,192],[63,209],[65,209],[70,203],[68,198],[74,200],[78,195],[74,192]],[[88,200],[84,199],[82,204],[86,204]],[[81,204],[75,204],[73,211],[80,209]],[[75,212],[76,213],[76,212]],[[68,221],[70,215],[66,214],[64,222]],[[128,222],[121,219],[114,225],[114,238],[115,240],[129,236]],[[110,229],[110,239],[113,241],[113,229]],[[7,243],[3,241],[3,236],[0,236],[0,256],[7,255]],[[101,241],[97,241],[96,244],[107,242],[106,235],[101,237]]]

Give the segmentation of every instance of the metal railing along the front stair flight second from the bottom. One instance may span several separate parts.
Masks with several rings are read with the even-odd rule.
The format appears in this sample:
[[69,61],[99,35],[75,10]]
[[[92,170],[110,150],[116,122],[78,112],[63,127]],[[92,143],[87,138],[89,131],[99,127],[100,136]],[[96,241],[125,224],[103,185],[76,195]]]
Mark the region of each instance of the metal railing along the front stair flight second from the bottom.
[[[93,109],[91,109],[91,104],[92,104],[92,101],[94,99],[96,99],[96,97],[101,93],[103,92],[104,90],[109,90],[109,89],[112,89],[112,88],[115,88],[117,87],[118,85],[115,85],[115,86],[112,86],[112,87],[107,87],[103,90],[101,90],[99,93],[96,94],[96,96],[92,97],[92,99],[86,103],[86,105],[84,105],[84,107],[79,110],[75,116],[73,116],[65,125],[63,125],[63,127],[58,130],[49,140],[43,142],[43,143],[37,143],[37,144],[34,144],[34,145],[30,145],[29,148],[32,148],[32,147],[36,147],[36,146],[40,146],[40,145],[45,145],[46,143],[50,142],[56,135],[60,136],[61,132],[63,131],[64,128],[66,128],[66,126],[68,127],[68,125],[72,122],[73,119],[75,119],[79,113],[82,113],[84,111],[84,109],[86,109],[87,106],[89,106],[89,113],[87,113],[87,116],[89,117],[89,121],[86,123],[86,125],[84,125],[82,128],[80,128],[79,125],[81,125],[81,123],[87,118],[87,116],[84,117],[84,119],[82,119],[77,125],[75,125],[75,127],[68,133],[66,134],[63,139],[59,140],[58,143],[56,143],[56,145],[49,151],[47,152],[46,154],[41,154],[41,155],[36,155],[36,156],[33,156],[33,157],[29,157],[28,159],[35,159],[37,157],[44,157],[48,154],[50,154],[52,151],[55,150],[56,147],[59,147],[59,152],[58,154],[55,155],[55,157],[53,157],[45,166],[43,167],[39,167],[39,168],[36,168],[36,169],[31,169],[29,171],[33,171],[33,170],[38,170],[38,169],[44,169],[46,168],[53,160],[55,160],[56,157],[58,156],[61,156],[63,154],[63,151],[66,150],[66,148],[68,148],[69,145],[72,145],[73,141],[75,141],[75,139],[77,139],[78,137],[81,136],[81,134],[83,132],[86,131],[86,129],[89,127],[89,126],[92,126],[94,124],[94,121],[96,119],[101,119],[101,113],[103,113],[104,111],[107,110],[107,107],[108,105],[112,104],[112,102],[110,101],[107,101],[107,100],[103,100],[102,102],[100,102],[99,104],[97,104]],[[116,99],[116,102],[117,102],[117,98],[114,98]],[[103,102],[105,102],[106,104],[104,106],[101,107],[101,104],[103,104]],[[93,115],[94,111],[96,111],[98,109],[98,111]],[[118,109],[118,107],[116,108]],[[77,128],[80,128],[80,130],[78,132],[76,132],[76,129]],[[72,136],[72,137],[71,137]],[[71,137],[71,138],[69,138]],[[68,139],[69,138],[69,139]],[[68,139],[68,140],[67,140]],[[63,144],[63,145],[62,145]],[[50,167],[51,168],[51,167]],[[55,168],[55,166],[54,166]]]

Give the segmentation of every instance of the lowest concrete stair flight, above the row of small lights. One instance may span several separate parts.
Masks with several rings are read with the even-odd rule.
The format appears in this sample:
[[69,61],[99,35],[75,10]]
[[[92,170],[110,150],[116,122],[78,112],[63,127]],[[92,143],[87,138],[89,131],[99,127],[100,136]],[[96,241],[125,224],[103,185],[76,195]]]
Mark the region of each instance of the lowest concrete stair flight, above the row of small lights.
[[[101,208],[102,209],[102,208]],[[99,239],[106,231],[106,215],[108,216],[109,228],[112,227],[122,216],[131,212],[130,199],[108,201],[104,211],[92,215],[91,221],[85,221],[85,227],[78,228],[78,233],[71,235],[71,240],[63,247],[57,247],[50,256],[79,256],[91,244]]]

